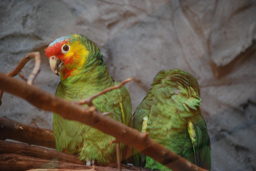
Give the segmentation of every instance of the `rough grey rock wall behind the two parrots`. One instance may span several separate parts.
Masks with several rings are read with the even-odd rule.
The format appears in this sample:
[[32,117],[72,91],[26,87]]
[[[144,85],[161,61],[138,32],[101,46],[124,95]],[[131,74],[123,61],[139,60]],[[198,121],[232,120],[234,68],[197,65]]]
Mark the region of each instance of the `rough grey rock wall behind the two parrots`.
[[[128,83],[133,110],[156,73],[180,68],[201,87],[211,138],[211,170],[256,170],[255,1],[2,1],[0,72],[31,51],[42,54],[35,85],[55,93],[59,77],[43,49],[81,33],[98,44],[116,80]],[[22,73],[29,75],[30,61]],[[18,76],[17,76],[18,78]],[[0,117],[52,128],[52,114],[4,93]]]

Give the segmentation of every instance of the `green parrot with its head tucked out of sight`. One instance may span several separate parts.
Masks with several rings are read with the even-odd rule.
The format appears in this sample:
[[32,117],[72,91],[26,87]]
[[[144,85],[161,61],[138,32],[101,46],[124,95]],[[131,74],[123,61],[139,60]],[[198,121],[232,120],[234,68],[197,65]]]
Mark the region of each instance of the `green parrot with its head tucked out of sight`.
[[[133,128],[148,132],[157,143],[210,170],[210,138],[200,111],[196,78],[180,69],[163,70],[151,86],[134,112]],[[132,160],[136,166],[170,170],[136,149],[132,149]]]

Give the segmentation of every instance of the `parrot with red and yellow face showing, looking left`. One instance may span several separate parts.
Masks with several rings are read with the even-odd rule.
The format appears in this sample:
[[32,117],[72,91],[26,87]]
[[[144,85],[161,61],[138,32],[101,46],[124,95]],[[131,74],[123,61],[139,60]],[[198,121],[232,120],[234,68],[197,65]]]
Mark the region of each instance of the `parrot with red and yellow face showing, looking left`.
[[[63,99],[85,99],[120,83],[108,73],[99,48],[83,35],[60,37],[45,49],[45,54],[51,70],[60,73],[56,96]],[[92,103],[100,112],[110,112],[109,117],[132,127],[131,98],[125,86],[96,97]],[[87,165],[116,161],[116,145],[110,144],[114,137],[108,134],[57,113],[53,113],[53,131],[57,151],[77,154]],[[121,144],[122,159],[126,153],[127,146]]]

